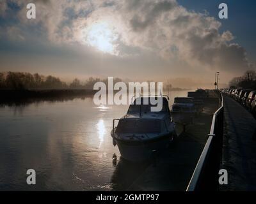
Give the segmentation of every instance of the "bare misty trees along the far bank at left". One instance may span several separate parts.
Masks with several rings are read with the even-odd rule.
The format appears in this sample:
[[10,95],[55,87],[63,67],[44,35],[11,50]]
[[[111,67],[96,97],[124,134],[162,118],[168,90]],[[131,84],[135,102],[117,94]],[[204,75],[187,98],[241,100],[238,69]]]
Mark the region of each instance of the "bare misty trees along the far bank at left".
[[[120,78],[114,78],[114,82],[121,82]],[[70,84],[63,82],[58,77],[44,76],[38,73],[24,72],[0,72],[0,89],[6,90],[33,90],[33,89],[93,89],[96,82],[108,84],[108,78],[100,79],[90,77],[85,82],[75,78]]]

